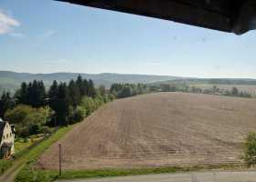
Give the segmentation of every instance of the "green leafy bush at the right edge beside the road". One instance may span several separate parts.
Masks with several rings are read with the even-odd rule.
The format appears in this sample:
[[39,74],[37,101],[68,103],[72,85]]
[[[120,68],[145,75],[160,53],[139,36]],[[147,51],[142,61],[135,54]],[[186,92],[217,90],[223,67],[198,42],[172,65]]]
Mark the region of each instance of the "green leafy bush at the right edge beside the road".
[[249,167],[256,164],[256,132],[251,132],[247,136],[243,158]]

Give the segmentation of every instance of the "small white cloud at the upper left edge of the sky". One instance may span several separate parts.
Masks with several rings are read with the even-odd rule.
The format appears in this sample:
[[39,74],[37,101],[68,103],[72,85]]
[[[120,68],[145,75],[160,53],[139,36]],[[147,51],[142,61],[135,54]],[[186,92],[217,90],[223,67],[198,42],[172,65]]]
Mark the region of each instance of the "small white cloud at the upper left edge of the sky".
[[5,12],[3,12],[0,9],[0,35],[10,33],[13,27],[16,27],[19,25],[20,23],[16,19],[14,19],[9,15],[6,15]]

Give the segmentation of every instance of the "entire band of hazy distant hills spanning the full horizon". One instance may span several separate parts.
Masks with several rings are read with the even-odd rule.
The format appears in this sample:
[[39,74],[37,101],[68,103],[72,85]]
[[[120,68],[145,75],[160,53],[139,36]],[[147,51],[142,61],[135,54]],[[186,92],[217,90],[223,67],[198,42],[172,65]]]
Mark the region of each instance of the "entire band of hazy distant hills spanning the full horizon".
[[22,82],[32,80],[43,80],[48,87],[53,80],[69,82],[81,75],[83,78],[92,79],[95,86],[110,87],[113,83],[144,83],[151,85],[161,84],[211,84],[211,85],[250,85],[256,86],[256,79],[240,79],[240,78],[192,78],[179,76],[153,76],[153,75],[135,75],[135,74],[80,74],[80,73],[52,73],[52,74],[29,74],[17,73],[11,71],[0,71],[0,93],[3,90],[15,93],[16,89]]

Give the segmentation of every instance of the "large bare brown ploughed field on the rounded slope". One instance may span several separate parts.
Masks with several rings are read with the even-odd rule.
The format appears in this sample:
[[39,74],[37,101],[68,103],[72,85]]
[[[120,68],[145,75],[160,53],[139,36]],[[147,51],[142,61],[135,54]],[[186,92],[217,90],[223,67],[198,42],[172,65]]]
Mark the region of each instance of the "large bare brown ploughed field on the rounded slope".
[[[66,136],[64,169],[240,163],[256,99],[157,93],[102,106]],[[59,167],[58,143],[38,167]]]

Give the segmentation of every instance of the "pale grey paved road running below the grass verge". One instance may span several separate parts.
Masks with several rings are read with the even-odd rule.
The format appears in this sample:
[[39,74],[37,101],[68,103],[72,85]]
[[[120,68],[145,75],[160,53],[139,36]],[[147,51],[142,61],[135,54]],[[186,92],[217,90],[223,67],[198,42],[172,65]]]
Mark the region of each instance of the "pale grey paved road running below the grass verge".
[[196,172],[108,177],[95,179],[58,180],[59,182],[256,182],[256,171],[250,172]]

